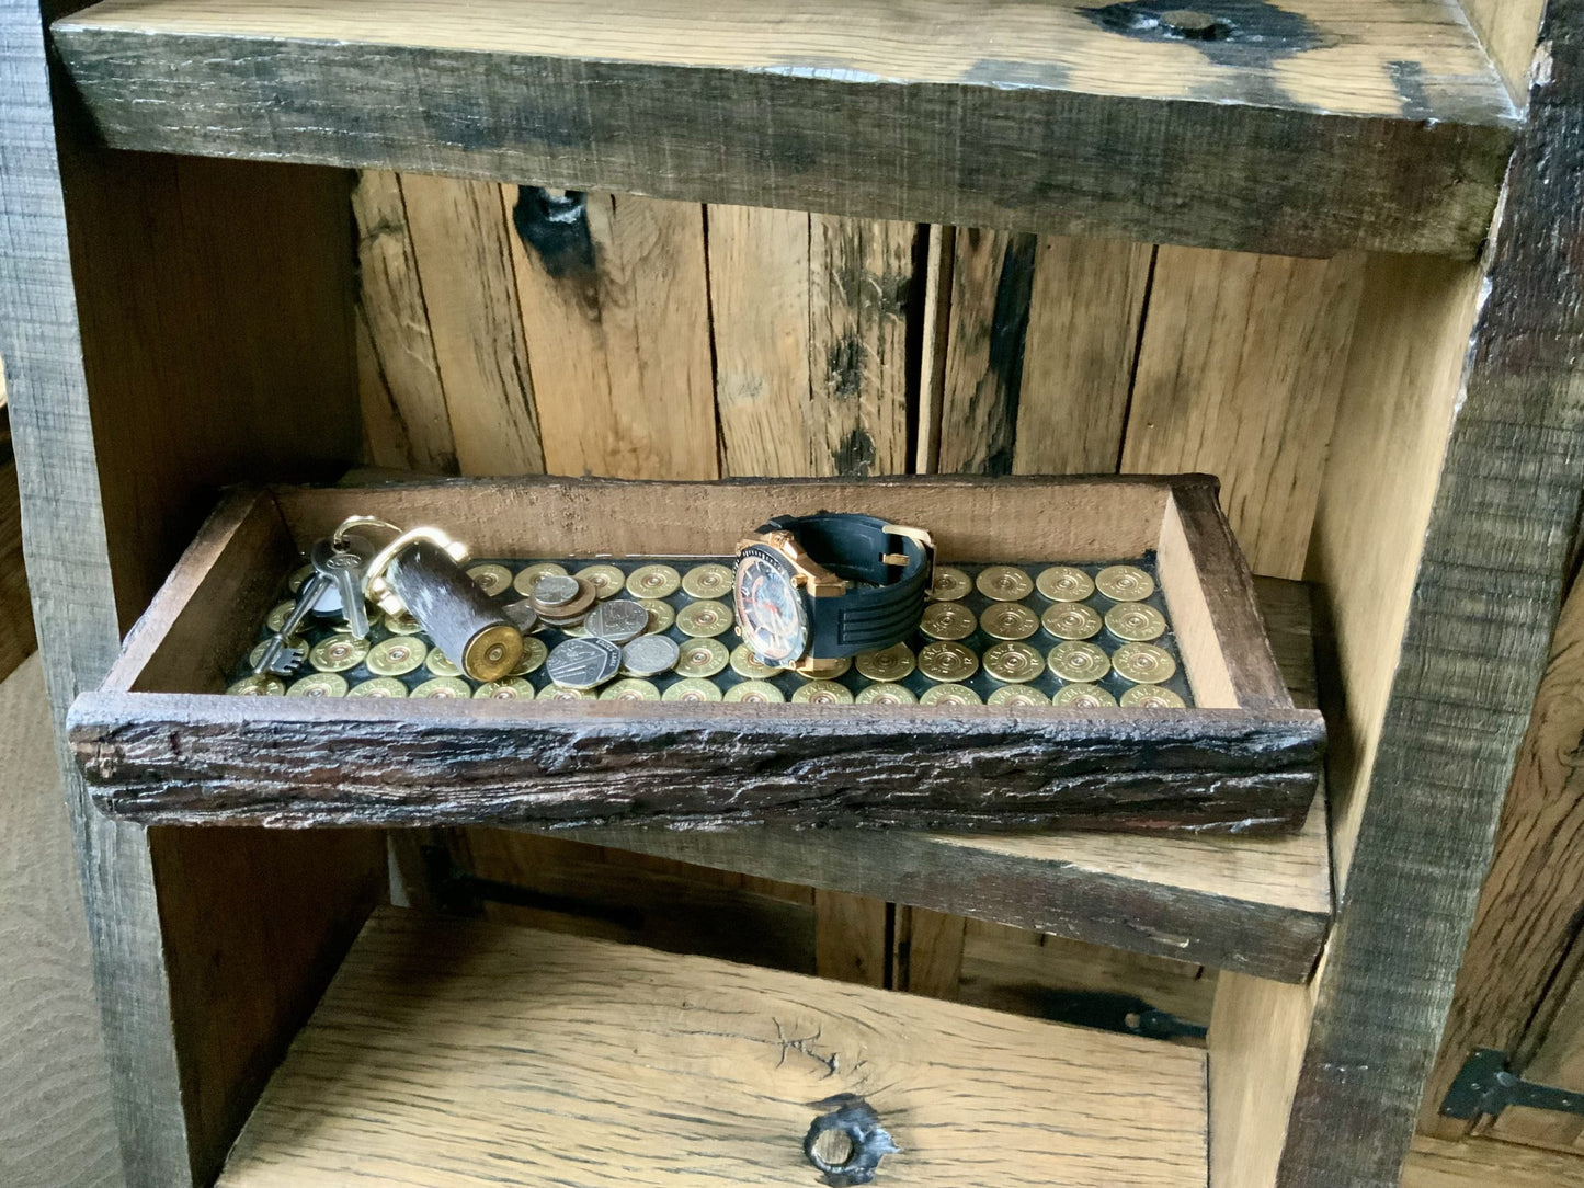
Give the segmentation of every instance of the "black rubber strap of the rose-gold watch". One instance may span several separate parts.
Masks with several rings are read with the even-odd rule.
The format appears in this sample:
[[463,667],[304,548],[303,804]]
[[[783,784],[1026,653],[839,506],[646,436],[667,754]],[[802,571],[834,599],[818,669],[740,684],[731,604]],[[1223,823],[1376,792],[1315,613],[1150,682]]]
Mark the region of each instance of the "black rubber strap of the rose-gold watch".
[[[933,551],[916,535],[885,529],[884,520],[849,512],[776,516],[759,529],[790,532],[816,562],[852,583],[841,597],[805,592],[811,659],[889,648],[919,626],[930,596]],[[887,564],[887,556],[898,554],[906,565]]]

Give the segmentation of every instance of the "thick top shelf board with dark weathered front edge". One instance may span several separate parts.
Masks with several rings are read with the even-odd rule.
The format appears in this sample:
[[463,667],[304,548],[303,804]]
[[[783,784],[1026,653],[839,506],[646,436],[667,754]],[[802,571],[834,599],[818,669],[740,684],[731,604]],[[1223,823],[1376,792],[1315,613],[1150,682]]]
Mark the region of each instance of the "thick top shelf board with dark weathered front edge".
[[127,149],[1473,253],[1516,114],[1456,5],[1201,8],[1224,40],[1083,0],[106,0],[54,41]]

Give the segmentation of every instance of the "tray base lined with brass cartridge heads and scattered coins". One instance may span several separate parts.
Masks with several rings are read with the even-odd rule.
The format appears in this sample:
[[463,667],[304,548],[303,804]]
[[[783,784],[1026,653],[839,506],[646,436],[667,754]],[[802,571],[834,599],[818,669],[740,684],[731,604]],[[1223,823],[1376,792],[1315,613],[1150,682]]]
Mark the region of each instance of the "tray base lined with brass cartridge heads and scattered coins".
[[[385,616],[369,640],[323,627],[315,635],[310,623],[298,642],[310,673],[290,684],[249,675],[230,692],[1183,708],[1188,684],[1152,567],[1153,558],[1095,567],[936,565],[914,638],[806,680],[759,664],[735,643],[725,561],[491,561],[467,572],[523,632],[523,659],[507,678],[467,680],[410,616]],[[266,634],[291,605],[269,613]]]

